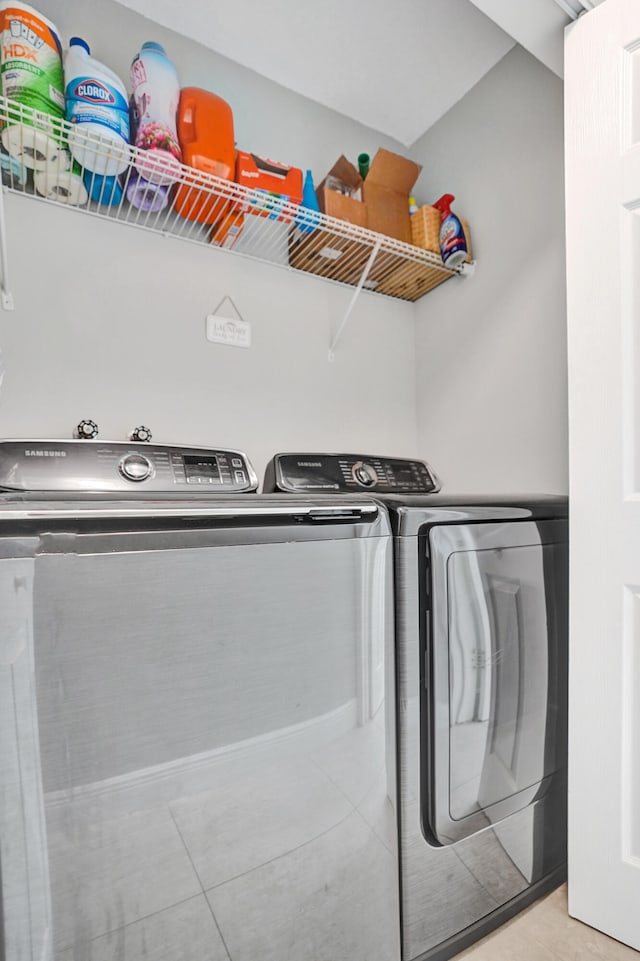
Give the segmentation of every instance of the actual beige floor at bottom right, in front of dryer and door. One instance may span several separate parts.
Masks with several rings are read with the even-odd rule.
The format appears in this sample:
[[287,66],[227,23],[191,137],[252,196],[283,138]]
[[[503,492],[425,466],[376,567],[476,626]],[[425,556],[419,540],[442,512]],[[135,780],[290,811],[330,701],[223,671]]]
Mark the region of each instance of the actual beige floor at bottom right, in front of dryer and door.
[[454,961],[638,961],[640,953],[569,917],[562,885]]

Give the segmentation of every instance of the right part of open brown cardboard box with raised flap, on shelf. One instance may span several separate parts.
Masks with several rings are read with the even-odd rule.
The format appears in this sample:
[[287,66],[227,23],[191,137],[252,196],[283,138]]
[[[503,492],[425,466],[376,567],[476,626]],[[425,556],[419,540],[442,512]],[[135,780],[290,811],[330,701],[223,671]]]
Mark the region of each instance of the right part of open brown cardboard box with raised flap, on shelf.
[[362,185],[369,230],[411,243],[409,194],[421,170],[406,157],[378,150]]

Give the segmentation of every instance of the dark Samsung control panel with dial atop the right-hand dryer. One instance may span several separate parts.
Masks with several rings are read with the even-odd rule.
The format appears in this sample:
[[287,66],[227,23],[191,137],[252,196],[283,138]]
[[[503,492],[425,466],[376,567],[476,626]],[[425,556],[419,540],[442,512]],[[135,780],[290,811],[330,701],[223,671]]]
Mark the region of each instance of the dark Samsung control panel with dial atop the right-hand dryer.
[[439,489],[424,461],[365,454],[276,454],[267,466],[265,493],[432,494]]

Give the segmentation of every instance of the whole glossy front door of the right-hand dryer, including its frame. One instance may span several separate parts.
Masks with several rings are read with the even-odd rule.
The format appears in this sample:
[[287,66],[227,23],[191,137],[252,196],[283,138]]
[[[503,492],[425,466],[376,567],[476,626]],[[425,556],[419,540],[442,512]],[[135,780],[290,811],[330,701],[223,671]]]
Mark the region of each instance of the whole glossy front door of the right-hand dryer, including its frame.
[[423,820],[451,844],[565,766],[567,524],[443,525],[427,543]]

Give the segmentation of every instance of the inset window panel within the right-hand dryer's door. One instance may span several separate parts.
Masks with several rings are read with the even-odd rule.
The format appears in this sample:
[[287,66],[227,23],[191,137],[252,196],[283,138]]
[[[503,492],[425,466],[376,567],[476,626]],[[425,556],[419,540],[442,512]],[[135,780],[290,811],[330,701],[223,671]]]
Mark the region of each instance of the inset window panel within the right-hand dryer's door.
[[454,819],[550,773],[545,550],[553,547],[467,551],[449,558]]

